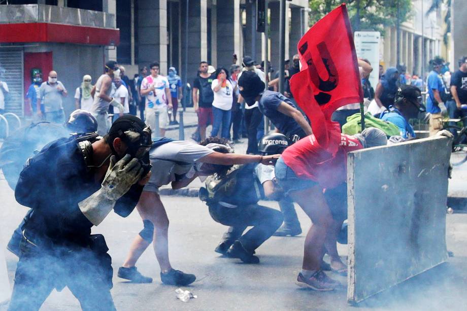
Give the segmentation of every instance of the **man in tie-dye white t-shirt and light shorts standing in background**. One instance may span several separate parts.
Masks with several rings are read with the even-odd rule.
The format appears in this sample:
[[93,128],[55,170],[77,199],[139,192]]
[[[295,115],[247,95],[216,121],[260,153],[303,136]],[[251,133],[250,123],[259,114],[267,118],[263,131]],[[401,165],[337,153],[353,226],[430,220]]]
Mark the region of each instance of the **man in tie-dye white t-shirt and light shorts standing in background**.
[[[151,63],[149,67],[151,75],[143,79],[140,90],[141,96],[146,96],[146,124],[151,126],[153,137],[164,136],[170,122],[167,109],[172,109],[169,80],[159,75],[158,62]],[[159,113],[159,133],[156,128],[156,112]]]

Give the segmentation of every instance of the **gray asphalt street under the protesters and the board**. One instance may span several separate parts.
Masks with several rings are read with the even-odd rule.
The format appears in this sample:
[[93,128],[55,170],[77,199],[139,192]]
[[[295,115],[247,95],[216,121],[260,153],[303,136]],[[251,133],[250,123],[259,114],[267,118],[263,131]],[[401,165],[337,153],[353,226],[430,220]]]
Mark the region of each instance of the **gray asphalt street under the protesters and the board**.
[[[0,245],[4,247],[26,208],[15,202],[13,191],[0,176],[3,217],[0,218]],[[272,237],[258,250],[261,263],[243,264],[237,259],[219,257],[214,252],[226,229],[209,216],[198,198],[163,196],[169,215],[170,256],[173,267],[195,273],[197,281],[184,287],[197,299],[176,299],[174,286],[162,285],[154,252],[148,249],[138,263],[139,270],[154,278],[152,284],[130,284],[116,277],[131,240],[142,229],[135,211],[127,218],[111,213],[93,233],[103,233],[113,259],[112,295],[119,310],[351,310],[346,290],[315,292],[294,284],[301,268],[305,234],[298,237]],[[277,208],[275,202],[263,202]],[[310,220],[297,209],[304,231]],[[384,220],[381,220],[384,221]],[[358,305],[362,310],[465,310],[467,307],[467,214],[447,215],[448,249],[454,257],[402,285]],[[387,247],[391,247],[388,245]],[[347,247],[338,246],[345,260]],[[13,285],[17,258],[6,252],[10,284]],[[343,284],[346,278],[329,273]],[[5,310],[6,306],[0,306]],[[79,310],[79,303],[68,289],[53,292],[43,310]]]

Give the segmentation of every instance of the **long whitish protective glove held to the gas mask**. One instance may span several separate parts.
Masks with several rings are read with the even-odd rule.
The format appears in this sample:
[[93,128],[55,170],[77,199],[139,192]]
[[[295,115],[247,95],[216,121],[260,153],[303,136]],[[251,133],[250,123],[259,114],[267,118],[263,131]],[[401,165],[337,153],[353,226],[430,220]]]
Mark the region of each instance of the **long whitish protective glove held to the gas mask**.
[[116,158],[112,156],[101,189],[78,203],[81,212],[93,225],[100,224],[112,211],[115,202],[140,180],[143,168],[138,159],[130,158],[127,154],[115,163]]

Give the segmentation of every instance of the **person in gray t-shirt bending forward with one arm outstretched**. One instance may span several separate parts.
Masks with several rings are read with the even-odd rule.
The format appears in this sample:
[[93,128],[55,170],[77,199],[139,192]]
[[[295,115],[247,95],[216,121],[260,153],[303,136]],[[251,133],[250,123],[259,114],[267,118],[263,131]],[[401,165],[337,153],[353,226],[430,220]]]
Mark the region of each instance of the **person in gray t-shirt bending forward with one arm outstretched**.
[[161,139],[151,148],[150,160],[152,176],[145,186],[137,209],[143,219],[143,230],[135,237],[128,256],[118,276],[135,283],[150,283],[151,278],[144,277],[136,268],[136,262],[154,241],[154,253],[160,266],[162,283],[185,286],[195,281],[193,274],[175,270],[169,260],[169,218],[159,196],[159,187],[171,184],[173,189],[189,185],[198,176],[207,176],[215,172],[215,164],[232,165],[247,163],[271,164],[278,155],[259,156],[214,151],[217,145],[208,147],[188,141]]

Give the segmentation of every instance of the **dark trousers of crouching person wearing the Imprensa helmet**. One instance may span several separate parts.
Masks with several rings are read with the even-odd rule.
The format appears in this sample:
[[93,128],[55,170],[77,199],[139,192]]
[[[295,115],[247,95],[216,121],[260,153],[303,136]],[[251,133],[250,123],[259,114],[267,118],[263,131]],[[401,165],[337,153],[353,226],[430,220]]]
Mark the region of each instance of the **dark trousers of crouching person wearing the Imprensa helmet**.
[[[209,214],[216,222],[230,226],[222,236],[227,246],[239,240],[251,253],[276,232],[283,220],[281,212],[258,204],[226,208],[219,203],[211,203]],[[253,228],[243,234],[248,226]]]

